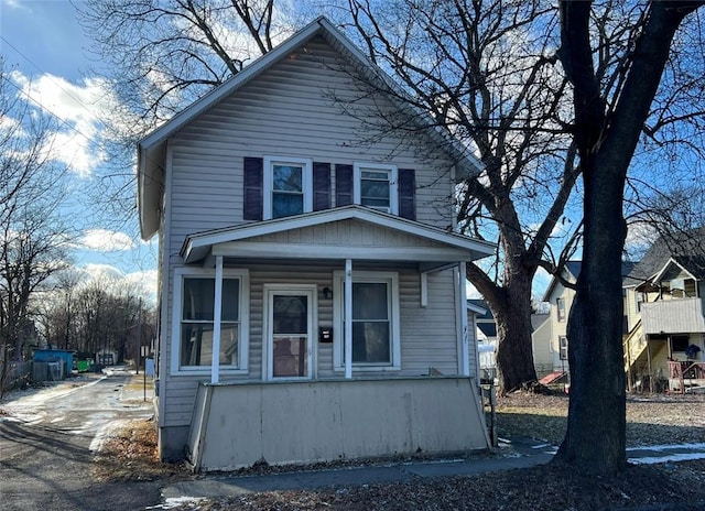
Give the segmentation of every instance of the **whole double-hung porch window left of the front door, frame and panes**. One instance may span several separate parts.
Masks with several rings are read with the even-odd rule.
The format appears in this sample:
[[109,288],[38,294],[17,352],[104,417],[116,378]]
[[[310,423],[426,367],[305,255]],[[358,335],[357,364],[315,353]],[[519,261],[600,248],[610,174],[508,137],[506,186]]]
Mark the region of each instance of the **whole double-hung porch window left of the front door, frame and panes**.
[[[215,274],[200,269],[177,269],[174,293],[175,372],[209,371],[215,327]],[[220,349],[224,371],[247,369],[246,271],[225,270],[220,303]]]

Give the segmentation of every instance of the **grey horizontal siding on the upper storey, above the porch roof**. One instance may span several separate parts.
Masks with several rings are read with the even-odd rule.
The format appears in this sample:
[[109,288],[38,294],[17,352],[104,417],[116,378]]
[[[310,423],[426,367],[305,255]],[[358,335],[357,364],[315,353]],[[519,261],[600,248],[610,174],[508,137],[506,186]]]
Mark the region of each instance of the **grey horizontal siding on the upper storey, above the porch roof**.
[[[437,154],[431,162],[429,154],[437,149],[419,143],[419,133],[413,134],[413,144],[391,135],[367,144],[364,139],[377,133],[341,115],[341,105],[330,97],[332,90],[352,94],[346,93],[350,76],[335,70],[339,64],[329,46],[311,43],[307,50],[264,72],[170,140],[172,253],[187,233],[242,221],[245,156],[310,157],[333,165],[383,162],[414,168],[416,219],[442,228],[452,224],[451,163]],[[376,111],[371,98],[356,102],[355,109],[368,118]]]

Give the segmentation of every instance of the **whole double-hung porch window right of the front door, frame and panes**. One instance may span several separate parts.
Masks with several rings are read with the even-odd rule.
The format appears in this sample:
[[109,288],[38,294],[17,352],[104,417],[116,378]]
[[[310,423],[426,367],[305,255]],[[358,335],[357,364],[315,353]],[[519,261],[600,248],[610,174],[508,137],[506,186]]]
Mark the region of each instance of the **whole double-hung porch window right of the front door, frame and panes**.
[[[345,367],[345,276],[334,283],[334,359]],[[399,369],[399,280],[392,272],[355,272],[352,276],[352,367]]]

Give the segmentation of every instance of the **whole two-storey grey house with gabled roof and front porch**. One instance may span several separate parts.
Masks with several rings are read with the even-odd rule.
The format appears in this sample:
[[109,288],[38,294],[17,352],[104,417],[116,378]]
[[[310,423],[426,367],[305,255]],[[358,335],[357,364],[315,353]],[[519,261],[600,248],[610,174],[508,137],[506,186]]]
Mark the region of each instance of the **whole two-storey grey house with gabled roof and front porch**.
[[322,18],[139,143],[162,459],[488,447],[465,263],[494,246],[452,204],[480,164],[370,84],[391,87]]

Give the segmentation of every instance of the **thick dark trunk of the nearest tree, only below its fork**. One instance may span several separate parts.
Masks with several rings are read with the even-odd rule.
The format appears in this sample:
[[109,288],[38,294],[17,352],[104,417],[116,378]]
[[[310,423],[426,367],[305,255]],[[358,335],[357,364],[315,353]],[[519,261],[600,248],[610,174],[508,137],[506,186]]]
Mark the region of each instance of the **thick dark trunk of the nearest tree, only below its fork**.
[[[585,247],[568,318],[571,401],[558,459],[593,472],[623,468],[626,391],[621,250],[627,228],[618,170],[585,172]],[[596,211],[600,211],[599,215]]]

